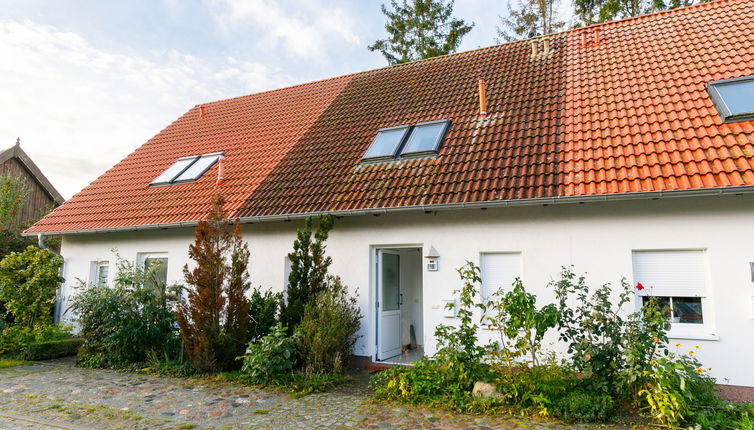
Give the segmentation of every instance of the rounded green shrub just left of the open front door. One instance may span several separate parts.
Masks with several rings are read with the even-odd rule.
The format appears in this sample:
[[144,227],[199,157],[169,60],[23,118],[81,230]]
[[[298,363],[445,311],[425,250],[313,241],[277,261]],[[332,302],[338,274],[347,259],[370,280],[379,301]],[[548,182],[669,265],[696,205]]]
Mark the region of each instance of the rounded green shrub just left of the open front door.
[[340,278],[329,277],[324,290],[306,305],[296,331],[299,356],[309,373],[332,373],[342,369],[356,343],[361,310]]

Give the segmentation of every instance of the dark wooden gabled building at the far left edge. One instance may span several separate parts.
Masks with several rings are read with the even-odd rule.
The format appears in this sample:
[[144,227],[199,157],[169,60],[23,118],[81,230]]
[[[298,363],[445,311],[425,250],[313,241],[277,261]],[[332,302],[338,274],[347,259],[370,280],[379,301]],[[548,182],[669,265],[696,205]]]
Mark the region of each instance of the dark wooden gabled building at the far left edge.
[[36,220],[65,200],[21,149],[20,139],[16,139],[15,145],[0,151],[0,175],[2,174],[23,178],[31,190],[26,205],[18,214],[18,223]]

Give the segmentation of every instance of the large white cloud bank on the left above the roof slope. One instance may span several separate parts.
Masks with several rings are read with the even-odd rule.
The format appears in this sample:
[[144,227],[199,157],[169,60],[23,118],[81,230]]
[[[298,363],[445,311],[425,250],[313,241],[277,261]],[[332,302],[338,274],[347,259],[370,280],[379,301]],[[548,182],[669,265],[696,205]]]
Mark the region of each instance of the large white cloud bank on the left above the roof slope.
[[234,58],[106,52],[30,21],[0,21],[0,58],[0,149],[20,136],[65,197],[191,106],[295,83]]

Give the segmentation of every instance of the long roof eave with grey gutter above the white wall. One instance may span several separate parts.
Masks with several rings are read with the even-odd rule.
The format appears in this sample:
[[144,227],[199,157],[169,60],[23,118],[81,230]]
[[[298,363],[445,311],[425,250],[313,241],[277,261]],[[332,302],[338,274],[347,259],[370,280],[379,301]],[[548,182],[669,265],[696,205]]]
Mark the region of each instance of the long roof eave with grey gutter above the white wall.
[[[579,195],[579,196],[560,196],[560,197],[538,197],[530,199],[510,199],[510,200],[488,200],[480,202],[468,202],[468,203],[444,203],[444,204],[431,204],[431,205],[415,205],[415,206],[399,206],[399,207],[383,207],[383,208],[368,208],[368,209],[347,209],[336,211],[317,211],[317,212],[302,212],[295,214],[282,214],[282,215],[265,215],[265,216],[250,216],[239,217],[238,220],[241,223],[262,223],[262,222],[275,222],[275,221],[292,221],[303,219],[308,216],[317,215],[333,215],[333,216],[359,216],[359,215],[383,215],[392,213],[410,213],[410,212],[434,212],[434,211],[447,211],[447,210],[460,210],[460,209],[487,209],[487,208],[499,208],[499,207],[513,207],[513,206],[537,206],[537,205],[557,205],[557,204],[572,204],[572,203],[589,203],[589,202],[604,202],[604,201],[627,201],[627,200],[653,200],[662,198],[678,198],[678,197],[704,197],[704,196],[720,196],[720,195],[735,195],[735,194],[750,194],[754,193],[754,185],[743,185],[735,187],[715,187],[715,188],[702,188],[694,190],[667,190],[667,191],[643,191],[634,193],[611,193],[611,194],[593,194],[593,195]],[[130,232],[141,230],[166,230],[172,228],[186,228],[195,227],[199,221],[185,221],[176,223],[162,223],[162,224],[144,224],[144,225],[132,225],[123,227],[106,227],[106,228],[94,228],[84,230],[61,230],[61,231],[49,231],[49,232],[29,232],[22,233],[23,236],[37,236],[42,234],[44,236],[57,236],[57,235],[79,235],[79,234],[94,234],[94,233],[117,233],[117,232]]]

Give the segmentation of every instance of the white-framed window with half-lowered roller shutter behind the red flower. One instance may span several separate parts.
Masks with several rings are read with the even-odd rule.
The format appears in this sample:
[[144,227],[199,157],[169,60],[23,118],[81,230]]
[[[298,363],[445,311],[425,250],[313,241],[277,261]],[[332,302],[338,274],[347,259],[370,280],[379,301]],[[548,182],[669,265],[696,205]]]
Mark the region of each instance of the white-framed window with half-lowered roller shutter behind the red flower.
[[657,297],[674,329],[709,322],[704,251],[634,251],[633,269],[641,303]]

